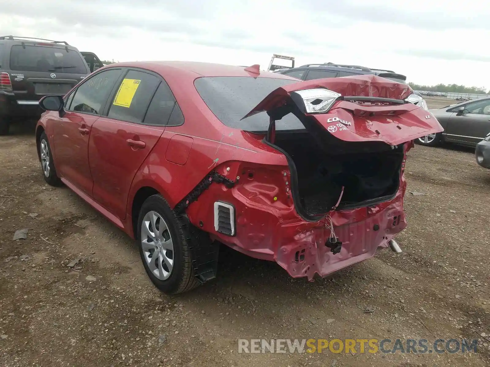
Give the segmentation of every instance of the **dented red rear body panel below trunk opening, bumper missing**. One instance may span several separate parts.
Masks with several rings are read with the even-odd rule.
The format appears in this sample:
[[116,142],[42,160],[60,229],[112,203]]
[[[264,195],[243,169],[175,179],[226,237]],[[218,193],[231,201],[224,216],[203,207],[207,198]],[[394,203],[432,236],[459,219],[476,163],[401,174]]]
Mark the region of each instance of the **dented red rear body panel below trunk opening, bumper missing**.
[[187,207],[191,223],[237,251],[276,261],[293,277],[326,276],[368,259],[406,226],[403,177],[392,200],[308,221],[294,204],[287,165],[228,161],[214,172],[233,183],[213,181],[202,190]]

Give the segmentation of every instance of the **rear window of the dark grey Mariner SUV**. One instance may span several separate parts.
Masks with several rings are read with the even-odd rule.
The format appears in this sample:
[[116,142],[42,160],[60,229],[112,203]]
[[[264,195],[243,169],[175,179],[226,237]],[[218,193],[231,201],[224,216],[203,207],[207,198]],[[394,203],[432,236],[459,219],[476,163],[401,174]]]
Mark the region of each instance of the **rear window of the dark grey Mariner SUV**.
[[10,69],[88,74],[85,61],[77,51],[50,46],[12,46]]

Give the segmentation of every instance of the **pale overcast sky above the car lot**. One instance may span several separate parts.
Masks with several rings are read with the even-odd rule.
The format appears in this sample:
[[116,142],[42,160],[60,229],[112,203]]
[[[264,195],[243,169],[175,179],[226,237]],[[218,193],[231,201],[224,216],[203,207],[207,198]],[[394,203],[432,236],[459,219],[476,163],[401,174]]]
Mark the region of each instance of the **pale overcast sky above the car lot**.
[[265,69],[278,53],[490,89],[490,3],[480,0],[0,2],[1,35],[63,40],[105,60]]

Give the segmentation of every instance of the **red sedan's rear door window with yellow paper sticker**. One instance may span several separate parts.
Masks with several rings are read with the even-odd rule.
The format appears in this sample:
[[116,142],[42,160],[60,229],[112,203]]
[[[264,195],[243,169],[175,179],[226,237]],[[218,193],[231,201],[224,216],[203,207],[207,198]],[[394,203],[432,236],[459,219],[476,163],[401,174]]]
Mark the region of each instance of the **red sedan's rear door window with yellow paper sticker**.
[[160,79],[144,71],[129,70],[110,105],[109,118],[142,123]]

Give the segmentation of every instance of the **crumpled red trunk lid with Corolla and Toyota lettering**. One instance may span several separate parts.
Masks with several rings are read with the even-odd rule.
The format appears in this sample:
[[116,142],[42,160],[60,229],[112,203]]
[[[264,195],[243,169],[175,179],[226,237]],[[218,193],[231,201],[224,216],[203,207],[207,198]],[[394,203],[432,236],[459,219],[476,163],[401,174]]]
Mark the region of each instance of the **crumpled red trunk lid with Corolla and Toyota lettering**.
[[[294,100],[292,93],[312,89],[327,89],[340,93],[341,97],[325,113],[299,112],[297,98]],[[434,115],[405,101],[412,93],[407,84],[376,75],[316,79],[277,88],[244,118],[263,111],[273,120],[290,112],[302,113],[298,118],[314,120],[335,138],[398,145],[443,131]]]

